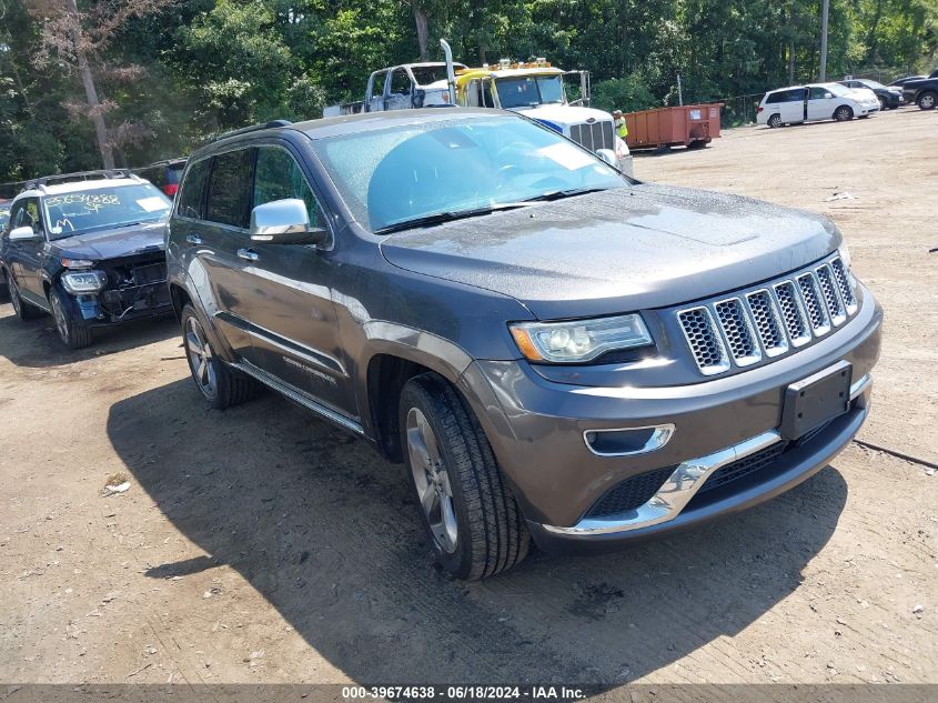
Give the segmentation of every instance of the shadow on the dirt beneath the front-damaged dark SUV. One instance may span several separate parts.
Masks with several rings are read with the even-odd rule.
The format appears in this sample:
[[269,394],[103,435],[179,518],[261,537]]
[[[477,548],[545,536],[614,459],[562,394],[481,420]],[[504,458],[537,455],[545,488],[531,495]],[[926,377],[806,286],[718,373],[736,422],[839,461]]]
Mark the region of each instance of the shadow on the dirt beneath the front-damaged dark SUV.
[[0,304],[0,356],[18,366],[61,366],[75,361],[125,351],[179,335],[172,317],[160,320],[137,320],[94,330],[91,347],[69,351],[56,332],[51,315],[22,321],[9,303]]

